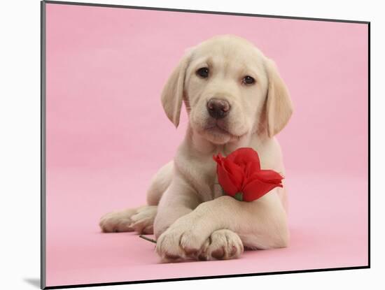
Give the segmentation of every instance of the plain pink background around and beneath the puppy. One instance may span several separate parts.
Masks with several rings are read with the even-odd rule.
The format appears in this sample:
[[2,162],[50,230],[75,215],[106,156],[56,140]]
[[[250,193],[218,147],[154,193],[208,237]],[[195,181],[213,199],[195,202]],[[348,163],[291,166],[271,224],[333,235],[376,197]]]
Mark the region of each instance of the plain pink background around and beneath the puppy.
[[[236,34],[276,61],[290,247],[162,264],[99,217],[145,203],[172,159],[160,92],[186,48]],[[47,4],[47,286],[367,265],[367,25]]]

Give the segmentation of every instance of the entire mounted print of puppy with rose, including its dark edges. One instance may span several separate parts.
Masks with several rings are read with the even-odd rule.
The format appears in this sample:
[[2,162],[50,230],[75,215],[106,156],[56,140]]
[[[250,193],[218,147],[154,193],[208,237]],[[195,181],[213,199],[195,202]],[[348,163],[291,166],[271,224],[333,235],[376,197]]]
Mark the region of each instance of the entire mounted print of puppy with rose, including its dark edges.
[[41,9],[42,288],[370,267],[370,22]]

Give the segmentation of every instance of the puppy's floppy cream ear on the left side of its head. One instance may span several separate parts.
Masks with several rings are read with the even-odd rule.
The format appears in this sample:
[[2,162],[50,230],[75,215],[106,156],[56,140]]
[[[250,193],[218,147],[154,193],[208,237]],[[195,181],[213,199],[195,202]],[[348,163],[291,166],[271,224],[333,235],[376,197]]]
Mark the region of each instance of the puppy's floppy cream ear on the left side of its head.
[[190,52],[187,52],[179,61],[178,66],[172,71],[162,91],[163,109],[165,109],[167,117],[176,127],[179,125],[179,117],[181,116],[184,82],[190,57]]

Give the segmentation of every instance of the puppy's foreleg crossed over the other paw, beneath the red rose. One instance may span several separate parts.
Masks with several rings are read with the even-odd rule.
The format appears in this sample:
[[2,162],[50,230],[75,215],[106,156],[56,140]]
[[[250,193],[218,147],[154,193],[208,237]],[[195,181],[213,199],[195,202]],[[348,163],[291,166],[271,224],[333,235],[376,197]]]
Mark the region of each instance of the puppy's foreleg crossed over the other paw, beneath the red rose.
[[210,235],[219,229],[237,233],[244,247],[269,249],[288,245],[286,212],[273,189],[250,203],[230,196],[201,203],[158,238],[157,252],[165,261],[170,260],[168,256],[174,260],[195,259]]

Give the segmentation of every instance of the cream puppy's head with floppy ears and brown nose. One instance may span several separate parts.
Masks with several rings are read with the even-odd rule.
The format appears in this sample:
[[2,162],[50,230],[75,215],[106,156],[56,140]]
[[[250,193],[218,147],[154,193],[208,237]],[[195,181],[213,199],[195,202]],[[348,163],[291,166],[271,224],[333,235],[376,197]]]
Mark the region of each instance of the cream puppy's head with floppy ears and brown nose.
[[163,108],[175,126],[183,101],[190,126],[214,144],[261,131],[274,136],[292,113],[273,61],[236,36],[211,38],[181,59],[162,92]]

